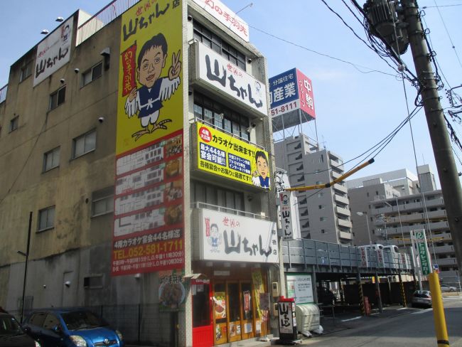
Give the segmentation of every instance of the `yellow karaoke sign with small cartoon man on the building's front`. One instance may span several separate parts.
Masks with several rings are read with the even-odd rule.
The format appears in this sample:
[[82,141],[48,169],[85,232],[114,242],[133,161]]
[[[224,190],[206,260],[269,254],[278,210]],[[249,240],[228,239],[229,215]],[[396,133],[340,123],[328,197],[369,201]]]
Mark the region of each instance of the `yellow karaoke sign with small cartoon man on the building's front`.
[[220,130],[197,123],[198,169],[270,188],[268,152]]

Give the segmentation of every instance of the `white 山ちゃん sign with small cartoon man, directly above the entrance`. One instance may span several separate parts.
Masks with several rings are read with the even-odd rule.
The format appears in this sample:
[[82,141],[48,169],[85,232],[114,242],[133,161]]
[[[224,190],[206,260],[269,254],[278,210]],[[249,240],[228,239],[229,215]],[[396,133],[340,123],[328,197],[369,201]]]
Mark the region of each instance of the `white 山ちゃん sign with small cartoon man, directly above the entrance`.
[[201,209],[200,260],[279,262],[276,225]]

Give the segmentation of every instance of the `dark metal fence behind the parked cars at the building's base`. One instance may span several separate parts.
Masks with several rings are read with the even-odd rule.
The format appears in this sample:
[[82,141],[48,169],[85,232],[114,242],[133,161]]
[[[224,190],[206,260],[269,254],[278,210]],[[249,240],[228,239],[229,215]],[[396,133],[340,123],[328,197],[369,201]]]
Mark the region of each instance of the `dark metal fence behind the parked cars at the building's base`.
[[[161,311],[159,304],[102,305],[78,307],[78,309],[87,309],[101,316],[112,328],[122,333],[126,344],[162,347],[176,345],[178,331],[175,327],[178,314],[184,314],[177,311]],[[25,316],[38,310],[26,310]],[[9,311],[9,313],[20,319],[21,310]]]

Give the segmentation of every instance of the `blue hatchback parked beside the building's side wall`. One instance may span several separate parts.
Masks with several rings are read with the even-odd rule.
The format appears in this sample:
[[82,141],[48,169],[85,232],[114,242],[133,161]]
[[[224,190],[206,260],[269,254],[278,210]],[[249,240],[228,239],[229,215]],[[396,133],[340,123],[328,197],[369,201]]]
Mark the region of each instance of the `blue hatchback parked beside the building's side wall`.
[[41,347],[123,347],[122,333],[103,319],[83,309],[34,311],[23,324],[24,331]]

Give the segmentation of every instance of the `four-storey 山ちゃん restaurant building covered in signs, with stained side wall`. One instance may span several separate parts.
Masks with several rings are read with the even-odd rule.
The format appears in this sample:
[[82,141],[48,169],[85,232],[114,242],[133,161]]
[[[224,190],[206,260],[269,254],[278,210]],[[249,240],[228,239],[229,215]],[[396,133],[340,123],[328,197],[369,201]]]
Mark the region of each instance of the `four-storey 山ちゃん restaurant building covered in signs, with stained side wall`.
[[267,79],[220,1],[115,0],[26,52],[0,97],[0,305],[23,303],[31,211],[26,309],[110,307],[168,346],[268,333]]

